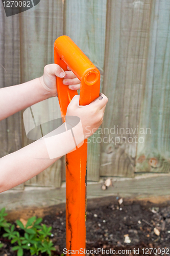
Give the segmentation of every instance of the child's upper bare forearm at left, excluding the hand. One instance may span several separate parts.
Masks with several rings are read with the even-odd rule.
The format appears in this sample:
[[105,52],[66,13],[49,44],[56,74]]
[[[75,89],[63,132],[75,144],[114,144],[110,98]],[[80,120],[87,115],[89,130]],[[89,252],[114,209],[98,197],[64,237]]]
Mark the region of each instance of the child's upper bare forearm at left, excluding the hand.
[[29,82],[0,89],[0,120],[49,98],[50,93],[43,90],[40,78]]

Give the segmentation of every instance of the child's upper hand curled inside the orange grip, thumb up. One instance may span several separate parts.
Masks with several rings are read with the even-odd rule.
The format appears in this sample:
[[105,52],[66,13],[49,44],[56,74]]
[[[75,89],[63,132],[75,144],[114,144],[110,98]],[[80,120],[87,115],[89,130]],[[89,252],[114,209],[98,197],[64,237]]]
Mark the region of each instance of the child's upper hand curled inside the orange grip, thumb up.
[[80,80],[76,75],[67,68],[68,71],[65,71],[57,64],[50,64],[44,67],[44,74],[40,77],[40,82],[43,90],[51,96],[57,96],[57,87],[56,87],[56,76],[64,78],[63,83],[68,85],[72,90],[80,89]]

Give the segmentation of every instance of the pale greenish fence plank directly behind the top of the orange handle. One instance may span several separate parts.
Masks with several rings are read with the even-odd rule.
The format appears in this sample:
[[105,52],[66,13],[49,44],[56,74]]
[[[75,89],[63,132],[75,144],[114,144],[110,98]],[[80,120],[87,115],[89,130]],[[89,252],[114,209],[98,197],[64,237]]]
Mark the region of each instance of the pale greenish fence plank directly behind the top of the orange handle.
[[[101,72],[103,86],[106,0],[65,0],[64,34],[68,35]],[[94,135],[94,138],[101,135]],[[88,144],[87,180],[100,177],[100,144]]]

